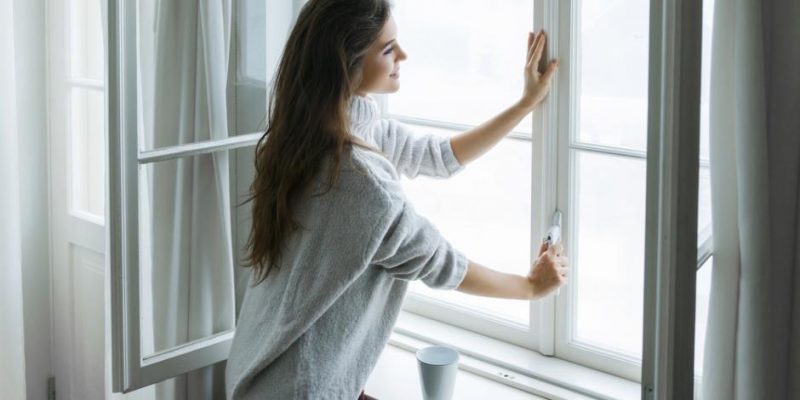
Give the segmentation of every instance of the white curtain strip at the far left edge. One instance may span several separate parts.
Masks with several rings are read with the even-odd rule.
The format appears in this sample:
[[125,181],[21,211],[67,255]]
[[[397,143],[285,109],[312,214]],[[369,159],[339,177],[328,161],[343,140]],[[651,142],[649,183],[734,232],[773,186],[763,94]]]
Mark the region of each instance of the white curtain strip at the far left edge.
[[0,399],[24,399],[26,392],[12,3],[0,0]]

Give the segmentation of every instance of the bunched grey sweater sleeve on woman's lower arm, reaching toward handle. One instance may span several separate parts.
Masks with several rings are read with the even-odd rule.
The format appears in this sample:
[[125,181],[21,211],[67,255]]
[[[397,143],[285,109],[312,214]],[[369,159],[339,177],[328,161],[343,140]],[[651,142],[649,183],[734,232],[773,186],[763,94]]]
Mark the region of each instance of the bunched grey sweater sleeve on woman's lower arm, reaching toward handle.
[[390,217],[372,265],[384,268],[396,279],[421,279],[431,288],[457,288],[467,272],[467,258],[442,237],[408,201]]

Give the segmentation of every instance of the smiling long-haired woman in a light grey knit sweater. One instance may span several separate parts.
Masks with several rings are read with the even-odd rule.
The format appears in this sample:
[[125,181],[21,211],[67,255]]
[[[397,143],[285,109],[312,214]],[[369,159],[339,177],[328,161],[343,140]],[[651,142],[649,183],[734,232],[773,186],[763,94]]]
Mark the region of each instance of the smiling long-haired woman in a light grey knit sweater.
[[[406,58],[387,0],[311,0],[278,67],[256,148],[253,268],[226,371],[230,399],[356,399],[385,346],[408,282],[536,299],[563,282],[546,246],[527,276],[469,261],[420,217],[399,173],[448,177],[542,100],[557,68],[528,37],[523,96],[452,140],[379,118],[369,93],[399,88]],[[359,395],[360,394],[360,395]]]

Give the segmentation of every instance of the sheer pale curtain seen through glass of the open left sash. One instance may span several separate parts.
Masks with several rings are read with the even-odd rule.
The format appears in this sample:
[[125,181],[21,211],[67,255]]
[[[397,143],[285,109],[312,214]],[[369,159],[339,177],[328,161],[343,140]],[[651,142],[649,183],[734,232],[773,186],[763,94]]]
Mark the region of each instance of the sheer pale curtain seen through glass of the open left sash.
[[[142,26],[152,29],[152,48],[141,59],[140,140],[160,148],[227,137],[230,1],[150,4],[153,19]],[[140,196],[148,235],[141,243],[150,268],[142,279],[152,288],[146,301],[152,346],[160,351],[234,326],[229,164],[222,153],[147,168]],[[190,372],[156,392],[164,400],[223,398],[224,369]]]

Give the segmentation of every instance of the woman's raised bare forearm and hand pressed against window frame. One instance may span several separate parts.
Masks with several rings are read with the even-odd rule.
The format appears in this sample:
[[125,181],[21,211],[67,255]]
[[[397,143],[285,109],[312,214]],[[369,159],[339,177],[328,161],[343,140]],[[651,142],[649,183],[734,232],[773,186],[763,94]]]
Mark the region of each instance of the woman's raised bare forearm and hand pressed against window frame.
[[528,55],[525,64],[525,87],[522,98],[511,107],[478,127],[450,139],[450,146],[461,165],[480,157],[494,147],[522,118],[525,118],[541,102],[550,90],[550,79],[558,68],[552,60],[543,72],[539,72],[539,60],[547,39],[544,31],[528,35]]

